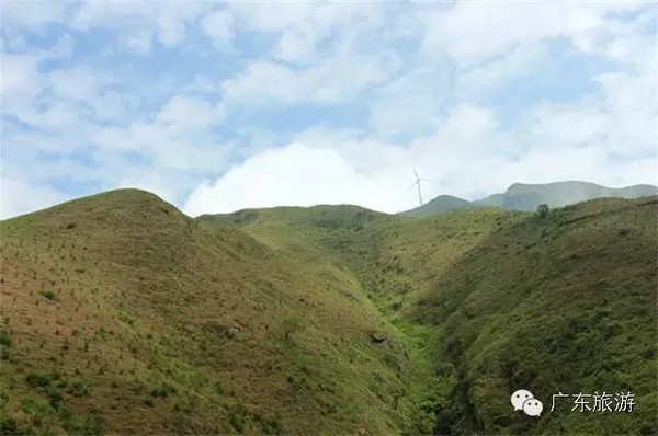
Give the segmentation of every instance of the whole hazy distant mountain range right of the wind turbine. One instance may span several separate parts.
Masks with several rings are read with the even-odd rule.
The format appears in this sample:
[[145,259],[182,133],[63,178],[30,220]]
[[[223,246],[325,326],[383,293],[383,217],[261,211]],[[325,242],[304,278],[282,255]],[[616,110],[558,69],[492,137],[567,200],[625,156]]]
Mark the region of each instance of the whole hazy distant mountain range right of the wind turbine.
[[616,188],[589,182],[514,183],[504,193],[489,195],[474,202],[452,195],[440,195],[420,207],[401,213],[401,215],[446,214],[453,210],[474,207],[500,207],[507,210],[532,211],[541,204],[546,204],[548,207],[560,207],[593,198],[638,198],[657,194],[658,186],[653,185],[634,185]]

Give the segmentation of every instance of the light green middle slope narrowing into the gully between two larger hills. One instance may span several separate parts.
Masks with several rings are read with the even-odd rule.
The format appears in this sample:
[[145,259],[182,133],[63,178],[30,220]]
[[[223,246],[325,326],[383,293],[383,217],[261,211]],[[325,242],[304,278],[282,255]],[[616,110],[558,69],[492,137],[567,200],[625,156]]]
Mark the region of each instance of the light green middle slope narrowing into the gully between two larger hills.
[[351,272],[409,344],[417,377],[409,380],[408,390],[421,400],[426,413],[417,413],[416,418],[418,427],[428,434],[439,428],[433,415],[450,400],[454,380],[451,364],[434,355],[441,340],[439,330],[431,323],[416,322],[409,311],[418,298],[433,289],[438,277],[491,232],[525,217],[480,208],[411,218],[353,206],[318,206],[249,210],[206,216],[204,220],[211,225],[234,222],[273,250],[296,255],[299,267],[318,268],[317,274]]

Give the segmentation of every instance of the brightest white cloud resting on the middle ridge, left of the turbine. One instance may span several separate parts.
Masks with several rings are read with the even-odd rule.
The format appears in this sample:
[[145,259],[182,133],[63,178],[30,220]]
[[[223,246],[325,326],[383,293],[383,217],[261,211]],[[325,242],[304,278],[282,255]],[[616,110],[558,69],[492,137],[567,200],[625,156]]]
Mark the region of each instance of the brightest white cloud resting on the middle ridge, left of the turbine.
[[395,171],[365,174],[334,149],[293,144],[251,157],[214,183],[201,185],[183,209],[200,215],[245,207],[350,203],[390,210],[407,196],[400,185]]

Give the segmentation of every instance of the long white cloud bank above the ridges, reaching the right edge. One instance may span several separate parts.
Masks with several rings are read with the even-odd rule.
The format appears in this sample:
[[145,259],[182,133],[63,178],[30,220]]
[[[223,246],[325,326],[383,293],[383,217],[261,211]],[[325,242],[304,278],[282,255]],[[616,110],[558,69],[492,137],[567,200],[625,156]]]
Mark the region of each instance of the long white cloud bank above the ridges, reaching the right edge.
[[[412,169],[431,183],[429,199],[445,193],[475,199],[515,182],[587,180],[624,186],[656,183],[656,157],[626,160],[601,145],[611,118],[586,108],[538,106],[510,129],[485,107],[461,104],[435,119],[436,129],[399,147],[350,131],[310,130],[299,141],[261,151],[184,205],[191,215],[277,205],[356,204],[382,211],[417,206]],[[579,126],[564,129],[565,123]],[[561,125],[561,126],[560,126]]]

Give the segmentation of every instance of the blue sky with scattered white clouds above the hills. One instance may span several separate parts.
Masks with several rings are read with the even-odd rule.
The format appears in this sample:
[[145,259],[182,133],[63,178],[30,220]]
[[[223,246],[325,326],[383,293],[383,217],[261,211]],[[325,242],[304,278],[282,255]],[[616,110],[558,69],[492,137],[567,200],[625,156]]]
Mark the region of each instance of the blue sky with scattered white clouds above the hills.
[[1,216],[657,183],[648,2],[3,1]]

